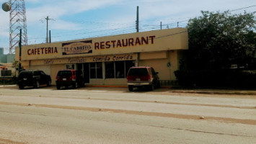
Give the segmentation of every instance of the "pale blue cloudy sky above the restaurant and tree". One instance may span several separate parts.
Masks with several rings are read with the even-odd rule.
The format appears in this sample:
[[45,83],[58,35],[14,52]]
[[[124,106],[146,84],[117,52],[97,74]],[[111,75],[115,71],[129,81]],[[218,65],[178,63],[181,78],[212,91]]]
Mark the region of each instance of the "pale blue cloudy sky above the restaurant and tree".
[[[255,0],[25,0],[25,4],[29,45],[45,42],[47,16],[53,19],[52,42],[58,42],[136,32],[137,6],[140,32],[159,30],[160,22],[163,29],[177,27],[177,22],[185,27],[202,10],[256,12]],[[9,53],[9,12],[0,10],[0,17],[0,48]]]

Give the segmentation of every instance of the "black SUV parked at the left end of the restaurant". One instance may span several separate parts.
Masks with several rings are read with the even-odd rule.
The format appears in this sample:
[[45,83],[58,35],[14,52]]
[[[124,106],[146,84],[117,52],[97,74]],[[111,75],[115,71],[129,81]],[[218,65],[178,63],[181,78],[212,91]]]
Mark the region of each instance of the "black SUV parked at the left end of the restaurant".
[[51,78],[45,72],[39,70],[22,71],[19,73],[17,84],[19,89],[24,89],[24,86],[39,88],[43,84],[50,86]]

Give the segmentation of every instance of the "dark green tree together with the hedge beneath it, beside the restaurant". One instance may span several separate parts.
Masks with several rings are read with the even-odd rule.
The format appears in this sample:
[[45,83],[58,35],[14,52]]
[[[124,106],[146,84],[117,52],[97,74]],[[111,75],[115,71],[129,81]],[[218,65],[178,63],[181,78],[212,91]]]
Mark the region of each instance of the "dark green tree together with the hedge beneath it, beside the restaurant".
[[190,19],[187,68],[175,71],[180,86],[255,89],[256,71],[245,71],[256,70],[254,15],[202,12]]

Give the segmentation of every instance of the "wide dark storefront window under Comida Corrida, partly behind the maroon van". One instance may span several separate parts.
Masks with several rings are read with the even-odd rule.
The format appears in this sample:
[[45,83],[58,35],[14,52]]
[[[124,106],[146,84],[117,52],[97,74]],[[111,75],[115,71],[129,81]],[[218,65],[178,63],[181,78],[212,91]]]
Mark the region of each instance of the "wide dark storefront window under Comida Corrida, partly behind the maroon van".
[[105,77],[106,78],[125,78],[129,69],[135,66],[133,60],[115,61],[105,63]]

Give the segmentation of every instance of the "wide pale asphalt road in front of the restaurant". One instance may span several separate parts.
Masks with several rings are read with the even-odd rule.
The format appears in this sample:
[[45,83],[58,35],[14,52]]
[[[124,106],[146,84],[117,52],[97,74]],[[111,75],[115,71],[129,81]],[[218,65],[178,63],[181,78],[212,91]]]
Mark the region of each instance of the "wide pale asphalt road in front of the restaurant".
[[0,87],[0,143],[256,143],[256,96]]

